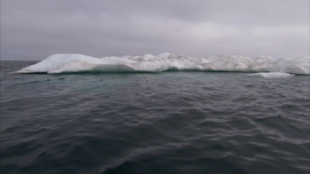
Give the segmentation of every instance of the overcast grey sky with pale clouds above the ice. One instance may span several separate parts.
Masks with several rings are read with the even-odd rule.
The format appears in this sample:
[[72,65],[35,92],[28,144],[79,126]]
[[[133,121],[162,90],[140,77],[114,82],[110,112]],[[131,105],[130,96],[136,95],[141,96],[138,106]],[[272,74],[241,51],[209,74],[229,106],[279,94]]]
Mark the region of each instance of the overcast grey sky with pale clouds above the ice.
[[309,0],[0,0],[1,60],[309,56]]

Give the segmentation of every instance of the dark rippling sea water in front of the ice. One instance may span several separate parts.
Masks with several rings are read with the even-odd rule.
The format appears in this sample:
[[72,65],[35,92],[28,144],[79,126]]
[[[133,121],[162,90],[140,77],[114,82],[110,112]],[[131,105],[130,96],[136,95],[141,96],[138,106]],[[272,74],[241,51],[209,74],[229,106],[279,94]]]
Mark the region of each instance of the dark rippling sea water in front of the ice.
[[14,74],[1,61],[1,174],[309,174],[310,76]]

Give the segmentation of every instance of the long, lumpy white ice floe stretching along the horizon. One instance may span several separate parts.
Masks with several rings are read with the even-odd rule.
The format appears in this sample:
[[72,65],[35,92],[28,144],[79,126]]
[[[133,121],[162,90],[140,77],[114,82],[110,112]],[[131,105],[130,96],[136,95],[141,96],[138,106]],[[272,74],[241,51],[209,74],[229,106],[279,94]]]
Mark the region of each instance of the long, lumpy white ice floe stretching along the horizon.
[[248,58],[240,55],[194,58],[181,54],[93,58],[78,54],[52,55],[15,73],[230,71],[310,74],[310,57]]

